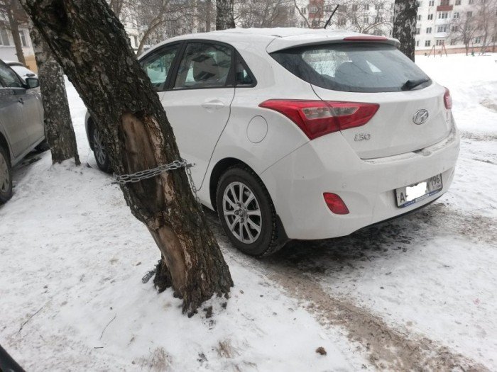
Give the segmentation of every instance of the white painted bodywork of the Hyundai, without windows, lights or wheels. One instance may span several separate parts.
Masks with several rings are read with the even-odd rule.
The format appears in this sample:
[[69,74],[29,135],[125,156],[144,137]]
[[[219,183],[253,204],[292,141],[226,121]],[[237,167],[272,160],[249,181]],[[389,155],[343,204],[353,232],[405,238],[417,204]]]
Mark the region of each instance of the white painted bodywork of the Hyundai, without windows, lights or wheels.
[[[371,38],[348,31],[233,29],[182,35],[141,56],[181,40],[212,40],[232,45],[256,77],[251,87],[159,92],[182,157],[197,164],[192,174],[204,205],[214,209],[211,177],[226,159],[243,162],[258,174],[290,239],[348,235],[420,208],[447,191],[459,154],[459,133],[444,107],[442,86],[433,82],[412,91],[333,91],[299,79],[268,55],[347,37]],[[391,38],[381,43],[398,45]],[[285,115],[258,106],[268,99],[378,103],[379,109],[366,125],[309,140]],[[202,106],[208,102],[217,107]],[[420,109],[430,111],[430,118],[415,125],[413,114]],[[357,141],[361,134],[368,134],[369,140]],[[437,174],[442,174],[441,191],[398,208],[395,188]],[[350,213],[332,213],[324,192],[337,193]]]

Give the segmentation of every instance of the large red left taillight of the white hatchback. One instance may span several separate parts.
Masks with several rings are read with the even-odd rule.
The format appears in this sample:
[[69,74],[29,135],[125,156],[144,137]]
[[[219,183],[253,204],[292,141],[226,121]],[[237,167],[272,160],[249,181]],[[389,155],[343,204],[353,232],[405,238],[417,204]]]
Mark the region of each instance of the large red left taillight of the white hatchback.
[[270,99],[259,105],[283,113],[313,140],[328,133],[368,123],[380,107],[376,103]]

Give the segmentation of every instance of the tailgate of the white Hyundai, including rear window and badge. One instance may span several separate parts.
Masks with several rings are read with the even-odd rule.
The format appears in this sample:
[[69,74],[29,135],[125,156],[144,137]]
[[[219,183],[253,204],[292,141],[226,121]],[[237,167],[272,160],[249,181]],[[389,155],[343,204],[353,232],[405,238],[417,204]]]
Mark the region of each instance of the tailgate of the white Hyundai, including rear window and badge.
[[[451,130],[445,89],[393,45],[335,43],[272,55],[310,82],[323,101],[379,104],[368,123],[342,130],[363,159],[420,150],[442,140]],[[420,117],[423,120],[418,120]]]

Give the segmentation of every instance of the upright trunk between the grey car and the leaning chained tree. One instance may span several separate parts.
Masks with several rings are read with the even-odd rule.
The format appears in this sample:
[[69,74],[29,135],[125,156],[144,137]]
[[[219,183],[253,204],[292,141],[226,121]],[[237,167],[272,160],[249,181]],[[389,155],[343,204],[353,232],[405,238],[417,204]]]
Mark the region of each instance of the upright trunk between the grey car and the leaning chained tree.
[[31,28],[30,35],[38,65],[38,79],[45,111],[45,137],[52,152],[52,163],[61,163],[74,157],[76,165],[80,165],[65,93],[64,72],[38,31]]

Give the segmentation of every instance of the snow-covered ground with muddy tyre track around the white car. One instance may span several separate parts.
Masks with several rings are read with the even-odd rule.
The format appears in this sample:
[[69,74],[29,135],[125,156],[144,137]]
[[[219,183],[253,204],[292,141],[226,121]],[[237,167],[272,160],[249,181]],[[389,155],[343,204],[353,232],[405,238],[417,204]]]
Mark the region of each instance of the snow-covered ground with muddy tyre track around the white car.
[[417,57],[451,90],[462,133],[452,188],[419,213],[259,261],[206,210],[235,281],[210,318],[142,283],[160,254],[97,170],[68,84],[83,165],[45,152],[14,171],[0,344],[27,371],[497,370],[496,60]]

